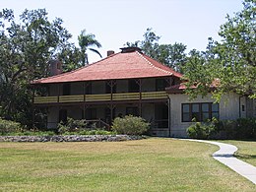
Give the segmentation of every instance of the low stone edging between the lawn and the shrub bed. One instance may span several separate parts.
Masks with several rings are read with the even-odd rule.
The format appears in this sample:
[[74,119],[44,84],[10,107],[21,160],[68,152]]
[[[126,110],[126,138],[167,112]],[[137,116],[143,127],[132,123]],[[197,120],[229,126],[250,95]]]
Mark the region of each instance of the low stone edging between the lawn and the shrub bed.
[[0,142],[121,142],[144,139],[129,135],[0,136]]

